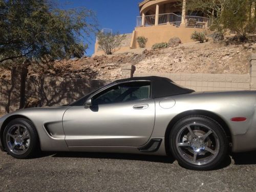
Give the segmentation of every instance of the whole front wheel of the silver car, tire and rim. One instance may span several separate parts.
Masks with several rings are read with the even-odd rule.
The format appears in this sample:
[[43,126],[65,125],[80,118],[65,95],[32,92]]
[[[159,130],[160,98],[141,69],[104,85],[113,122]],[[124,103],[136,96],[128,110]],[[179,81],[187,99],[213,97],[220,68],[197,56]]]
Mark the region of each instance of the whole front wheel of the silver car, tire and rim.
[[28,119],[18,118],[9,122],[3,140],[6,151],[17,159],[33,157],[40,150],[35,126]]

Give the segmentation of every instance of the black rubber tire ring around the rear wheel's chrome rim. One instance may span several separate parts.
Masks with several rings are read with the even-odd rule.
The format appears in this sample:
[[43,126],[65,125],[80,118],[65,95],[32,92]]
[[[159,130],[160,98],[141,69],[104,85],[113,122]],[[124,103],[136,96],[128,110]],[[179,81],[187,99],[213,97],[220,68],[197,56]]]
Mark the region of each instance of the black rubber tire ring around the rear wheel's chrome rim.
[[[220,141],[220,150],[219,150],[218,155],[215,157],[215,159],[213,159],[209,163],[206,163],[203,165],[195,165],[195,164],[185,161],[178,153],[178,150],[176,147],[176,137],[177,137],[180,129],[183,126],[185,126],[186,124],[193,123],[193,122],[202,123],[202,124],[209,126],[216,133],[216,135]],[[205,117],[205,116],[188,116],[188,117],[185,117],[185,118],[181,119],[180,121],[178,121],[174,125],[173,129],[170,131],[169,143],[170,143],[171,152],[174,155],[174,157],[178,160],[178,162],[183,167],[188,168],[188,169],[209,170],[209,169],[216,168],[218,165],[220,165],[223,162],[223,160],[226,158],[226,155],[228,152],[227,138],[226,138],[225,132],[222,129],[221,125],[217,121],[215,121],[211,118]]]

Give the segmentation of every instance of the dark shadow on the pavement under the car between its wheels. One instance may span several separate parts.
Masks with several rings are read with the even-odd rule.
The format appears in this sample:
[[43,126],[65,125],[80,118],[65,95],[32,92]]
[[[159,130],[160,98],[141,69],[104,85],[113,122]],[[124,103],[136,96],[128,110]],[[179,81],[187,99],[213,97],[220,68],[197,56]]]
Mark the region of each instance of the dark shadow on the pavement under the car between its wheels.
[[97,158],[97,159],[122,159],[136,161],[150,161],[159,163],[173,163],[175,159],[167,156],[138,155],[138,154],[116,154],[116,153],[81,153],[81,152],[58,152],[52,157],[71,158]]

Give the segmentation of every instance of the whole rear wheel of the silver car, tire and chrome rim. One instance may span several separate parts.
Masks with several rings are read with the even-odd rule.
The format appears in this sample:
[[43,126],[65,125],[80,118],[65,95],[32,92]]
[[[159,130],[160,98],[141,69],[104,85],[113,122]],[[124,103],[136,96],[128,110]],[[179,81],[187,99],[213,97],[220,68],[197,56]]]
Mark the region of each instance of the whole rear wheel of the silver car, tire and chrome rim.
[[217,168],[228,155],[228,140],[222,126],[206,116],[192,115],[179,120],[170,131],[169,143],[173,156],[188,169]]

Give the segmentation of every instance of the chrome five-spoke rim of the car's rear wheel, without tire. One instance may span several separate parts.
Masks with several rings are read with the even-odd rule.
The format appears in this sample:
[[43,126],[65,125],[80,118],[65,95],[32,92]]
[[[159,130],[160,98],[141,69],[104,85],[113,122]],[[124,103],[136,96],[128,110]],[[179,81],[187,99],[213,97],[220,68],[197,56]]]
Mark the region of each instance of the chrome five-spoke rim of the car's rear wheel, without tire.
[[195,165],[214,160],[220,151],[220,139],[210,126],[203,123],[184,125],[176,136],[176,148],[180,157]]

